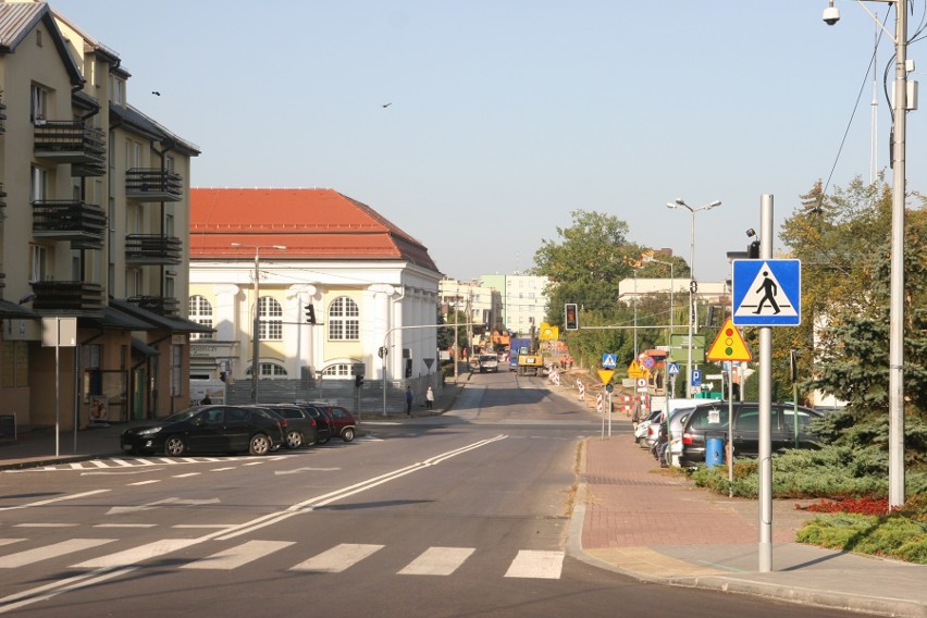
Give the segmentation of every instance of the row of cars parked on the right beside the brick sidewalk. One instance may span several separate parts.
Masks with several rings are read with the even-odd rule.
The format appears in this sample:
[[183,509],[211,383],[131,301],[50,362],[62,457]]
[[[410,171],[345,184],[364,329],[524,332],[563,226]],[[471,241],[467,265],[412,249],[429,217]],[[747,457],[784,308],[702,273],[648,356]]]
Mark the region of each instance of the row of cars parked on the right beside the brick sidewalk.
[[[733,412],[733,427],[729,430],[729,409]],[[772,453],[788,448],[817,448],[818,436],[812,433],[812,420],[823,412],[792,404],[772,404],[770,410],[770,441]],[[652,412],[635,428],[635,442],[651,448],[664,465],[693,468],[705,461],[709,438],[725,443],[732,440],[733,453],[739,457],[759,454],[759,404],[756,401],[692,400],[679,403],[670,409],[669,435],[666,417]]]

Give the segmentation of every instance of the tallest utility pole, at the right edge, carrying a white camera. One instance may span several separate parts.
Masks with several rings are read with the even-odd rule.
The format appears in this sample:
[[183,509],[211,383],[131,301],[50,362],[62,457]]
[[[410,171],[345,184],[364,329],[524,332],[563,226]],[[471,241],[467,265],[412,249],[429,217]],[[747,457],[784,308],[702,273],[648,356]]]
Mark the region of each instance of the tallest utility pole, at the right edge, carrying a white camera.
[[895,2],[895,76],[889,311],[889,508],[904,506],[904,194],[907,128],[907,0]]

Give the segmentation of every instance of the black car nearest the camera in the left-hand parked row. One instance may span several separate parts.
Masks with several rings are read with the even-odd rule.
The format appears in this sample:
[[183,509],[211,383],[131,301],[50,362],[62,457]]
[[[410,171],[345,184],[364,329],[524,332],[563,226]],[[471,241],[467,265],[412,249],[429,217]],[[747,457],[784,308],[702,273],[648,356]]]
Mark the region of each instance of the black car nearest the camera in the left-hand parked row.
[[164,452],[267,455],[283,443],[286,421],[261,408],[200,406],[129,428],[119,442],[135,455]]

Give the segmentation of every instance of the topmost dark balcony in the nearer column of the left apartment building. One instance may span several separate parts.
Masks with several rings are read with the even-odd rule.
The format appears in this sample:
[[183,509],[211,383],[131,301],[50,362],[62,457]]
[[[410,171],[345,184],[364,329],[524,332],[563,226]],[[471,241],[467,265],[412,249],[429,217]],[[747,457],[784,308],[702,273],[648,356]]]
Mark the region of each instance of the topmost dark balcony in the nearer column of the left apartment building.
[[102,129],[81,121],[37,121],[35,156],[55,163],[73,163],[75,175],[100,176],[106,172]]

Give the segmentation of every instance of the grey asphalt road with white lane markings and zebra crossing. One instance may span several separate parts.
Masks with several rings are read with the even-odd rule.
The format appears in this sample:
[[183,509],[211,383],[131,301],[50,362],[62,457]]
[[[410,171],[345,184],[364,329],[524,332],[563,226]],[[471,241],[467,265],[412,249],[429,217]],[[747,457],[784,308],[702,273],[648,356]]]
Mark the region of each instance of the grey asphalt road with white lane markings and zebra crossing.
[[0,613],[795,615],[566,556],[577,446],[601,425],[539,379],[474,375],[452,413],[364,429],[268,457],[4,472]]

